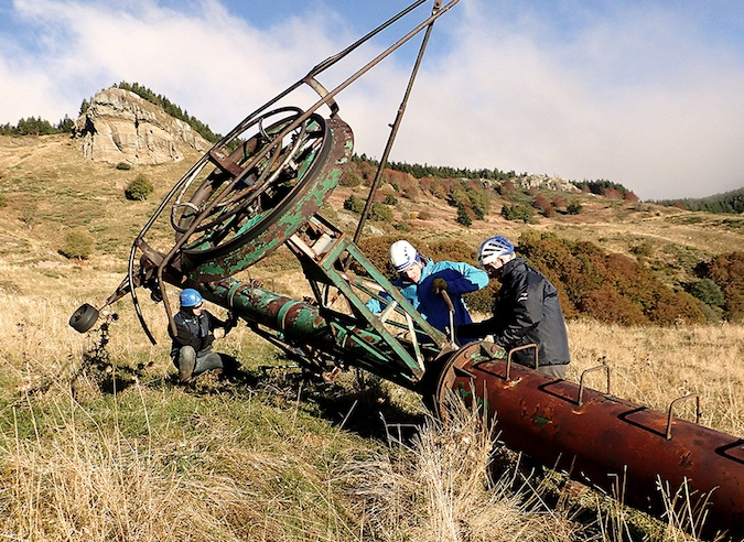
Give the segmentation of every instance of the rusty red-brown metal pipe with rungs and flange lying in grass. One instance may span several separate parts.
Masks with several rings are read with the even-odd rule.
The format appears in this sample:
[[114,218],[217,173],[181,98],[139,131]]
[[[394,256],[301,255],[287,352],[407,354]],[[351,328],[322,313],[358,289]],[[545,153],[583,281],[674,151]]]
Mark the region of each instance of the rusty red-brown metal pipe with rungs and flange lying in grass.
[[492,359],[499,350],[493,343],[462,348],[442,373],[440,400],[449,390],[475,398],[510,449],[657,517],[666,510],[658,481],[672,495],[687,483],[693,502],[708,499],[704,535],[744,536],[742,438],[519,365],[509,365],[507,378],[507,361]]

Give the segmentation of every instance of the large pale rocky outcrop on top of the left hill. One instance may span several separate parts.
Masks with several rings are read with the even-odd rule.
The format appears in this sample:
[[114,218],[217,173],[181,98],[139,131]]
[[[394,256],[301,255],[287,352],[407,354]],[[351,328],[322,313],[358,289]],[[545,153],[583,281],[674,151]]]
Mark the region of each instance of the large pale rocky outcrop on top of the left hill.
[[96,94],[75,121],[74,137],[83,154],[95,162],[162,164],[183,160],[186,147],[212,147],[186,122],[121,88]]

